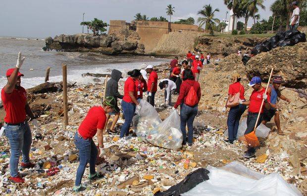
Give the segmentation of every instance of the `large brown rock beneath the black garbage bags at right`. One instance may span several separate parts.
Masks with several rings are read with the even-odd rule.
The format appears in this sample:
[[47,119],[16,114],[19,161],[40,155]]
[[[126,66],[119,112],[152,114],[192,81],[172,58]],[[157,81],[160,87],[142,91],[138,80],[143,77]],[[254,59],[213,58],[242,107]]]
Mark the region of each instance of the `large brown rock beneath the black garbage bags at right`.
[[262,52],[252,57],[247,65],[248,77],[260,76],[268,80],[271,68],[274,75],[281,75],[284,86],[297,89],[307,88],[307,43],[295,46],[278,47],[268,52]]

